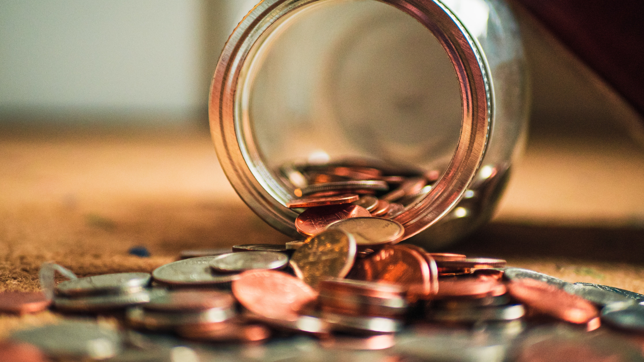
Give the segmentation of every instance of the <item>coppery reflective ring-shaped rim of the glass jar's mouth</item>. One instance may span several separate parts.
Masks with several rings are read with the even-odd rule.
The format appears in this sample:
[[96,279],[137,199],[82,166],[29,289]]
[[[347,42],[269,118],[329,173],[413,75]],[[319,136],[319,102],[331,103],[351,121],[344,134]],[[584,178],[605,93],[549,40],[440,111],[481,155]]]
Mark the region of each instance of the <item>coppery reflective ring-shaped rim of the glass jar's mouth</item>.
[[[343,0],[264,0],[234,30],[218,62],[211,86],[211,133],[220,164],[242,200],[263,220],[298,237],[296,211],[285,206],[295,196],[267,166],[251,120],[252,86],[272,40],[289,21],[319,6]],[[373,0],[375,2],[375,0]],[[379,0],[411,15],[427,28],[448,55],[459,86],[462,119],[457,146],[449,164],[421,200],[393,220],[405,227],[404,238],[435,224],[460,200],[484,157],[493,94],[486,62],[476,41],[459,19],[439,1]]]

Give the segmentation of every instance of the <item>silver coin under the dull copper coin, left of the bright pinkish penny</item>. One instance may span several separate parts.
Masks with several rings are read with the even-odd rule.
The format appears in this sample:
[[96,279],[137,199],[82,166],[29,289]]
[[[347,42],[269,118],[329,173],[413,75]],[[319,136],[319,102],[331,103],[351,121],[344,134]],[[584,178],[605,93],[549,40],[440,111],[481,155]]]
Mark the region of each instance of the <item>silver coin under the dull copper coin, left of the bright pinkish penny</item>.
[[219,323],[236,315],[234,306],[211,308],[200,312],[156,312],[143,307],[127,310],[128,321],[149,330],[170,330],[180,325]]

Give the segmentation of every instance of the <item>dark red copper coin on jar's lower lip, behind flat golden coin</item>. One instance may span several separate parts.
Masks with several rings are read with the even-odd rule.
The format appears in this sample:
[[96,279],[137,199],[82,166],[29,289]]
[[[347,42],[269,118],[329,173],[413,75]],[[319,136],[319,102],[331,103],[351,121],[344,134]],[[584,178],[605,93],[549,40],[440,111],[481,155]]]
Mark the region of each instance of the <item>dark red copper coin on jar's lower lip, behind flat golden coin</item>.
[[371,213],[353,204],[311,207],[298,215],[295,227],[298,233],[312,236],[324,231],[328,224],[359,216],[371,216]]

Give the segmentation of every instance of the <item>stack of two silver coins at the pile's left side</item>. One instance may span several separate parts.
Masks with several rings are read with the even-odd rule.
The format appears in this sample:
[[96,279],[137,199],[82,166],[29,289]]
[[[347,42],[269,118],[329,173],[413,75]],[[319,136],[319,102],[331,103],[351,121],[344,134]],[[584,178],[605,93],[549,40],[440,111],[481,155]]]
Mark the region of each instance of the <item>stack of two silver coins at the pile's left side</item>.
[[68,311],[120,309],[150,301],[150,274],[123,272],[62,281],[53,305]]

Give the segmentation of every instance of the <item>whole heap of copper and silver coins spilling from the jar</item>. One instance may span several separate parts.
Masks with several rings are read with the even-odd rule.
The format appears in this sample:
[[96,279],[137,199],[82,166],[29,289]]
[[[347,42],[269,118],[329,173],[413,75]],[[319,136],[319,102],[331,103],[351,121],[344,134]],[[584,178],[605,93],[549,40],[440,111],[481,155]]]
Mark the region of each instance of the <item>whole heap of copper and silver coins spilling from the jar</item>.
[[[133,337],[136,330],[226,348],[304,335],[316,344],[303,351],[391,348],[387,356],[421,360],[537,361],[531,356],[542,348],[544,328],[575,348],[596,348],[584,333],[602,323],[618,336],[644,333],[644,295],[401,243],[404,227],[391,219],[399,210],[392,205],[401,202],[402,209],[409,201],[401,200],[421,196],[429,178],[383,176],[366,167],[317,167],[301,177],[310,182],[289,205],[304,209],[296,227],[305,240],[184,251],[151,274],[77,278],[46,264],[41,283],[53,290],[0,293],[1,312],[50,308],[65,318],[122,317],[111,329],[104,321],[74,320],[21,330],[7,350],[34,348],[41,359],[118,360],[132,346],[170,357],[193,353],[149,347]],[[55,271],[69,280],[55,285]],[[644,345],[641,338],[627,341]]]

